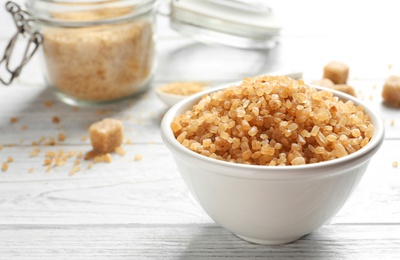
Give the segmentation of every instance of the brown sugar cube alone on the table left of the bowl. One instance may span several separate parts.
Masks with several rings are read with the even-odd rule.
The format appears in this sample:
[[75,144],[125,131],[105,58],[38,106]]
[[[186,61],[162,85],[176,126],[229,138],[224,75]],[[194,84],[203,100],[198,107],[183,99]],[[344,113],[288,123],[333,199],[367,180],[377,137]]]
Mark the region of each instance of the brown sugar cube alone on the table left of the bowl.
[[99,153],[110,153],[119,147],[124,137],[120,120],[105,118],[89,127],[93,149]]

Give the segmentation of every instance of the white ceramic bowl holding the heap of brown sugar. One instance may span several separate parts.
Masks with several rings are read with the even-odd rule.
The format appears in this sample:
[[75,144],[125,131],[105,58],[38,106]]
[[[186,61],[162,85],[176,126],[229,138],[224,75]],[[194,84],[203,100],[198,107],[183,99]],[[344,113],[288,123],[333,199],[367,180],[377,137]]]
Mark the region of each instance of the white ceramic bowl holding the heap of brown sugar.
[[[225,87],[179,102],[161,123],[162,138],[183,180],[207,214],[237,236],[259,244],[295,241],[334,217],[383,142],[384,126],[377,115],[364,105],[375,127],[374,135],[365,147],[339,159],[280,167],[230,163],[185,148],[170,127],[173,118],[191,109],[202,95]],[[332,92],[361,104],[349,95]]]

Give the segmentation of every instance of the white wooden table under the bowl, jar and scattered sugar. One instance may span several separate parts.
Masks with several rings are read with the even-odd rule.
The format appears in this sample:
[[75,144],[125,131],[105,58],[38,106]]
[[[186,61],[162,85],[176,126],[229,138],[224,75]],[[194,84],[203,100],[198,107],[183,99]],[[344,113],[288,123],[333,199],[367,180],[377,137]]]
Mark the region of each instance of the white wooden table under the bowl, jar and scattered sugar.
[[[0,163],[14,160],[0,170],[0,259],[400,259],[400,166],[392,166],[400,163],[400,110],[383,106],[380,97],[385,79],[400,75],[400,18],[396,1],[349,2],[271,1],[285,28],[279,45],[265,52],[202,45],[160,17],[153,89],[101,108],[57,101],[34,58],[12,86],[0,86]],[[1,6],[0,53],[13,32]],[[331,60],[350,66],[349,84],[384,120],[383,146],[331,223],[287,245],[245,242],[189,194],[160,137],[167,107],[154,87],[292,69],[311,81]],[[55,116],[60,123],[52,122]],[[74,159],[46,171],[46,151],[88,152],[87,126],[104,117],[123,121],[125,156],[91,169],[82,160],[73,176]],[[59,133],[65,141],[57,141]],[[31,156],[32,142],[42,137],[56,145],[44,141]]]

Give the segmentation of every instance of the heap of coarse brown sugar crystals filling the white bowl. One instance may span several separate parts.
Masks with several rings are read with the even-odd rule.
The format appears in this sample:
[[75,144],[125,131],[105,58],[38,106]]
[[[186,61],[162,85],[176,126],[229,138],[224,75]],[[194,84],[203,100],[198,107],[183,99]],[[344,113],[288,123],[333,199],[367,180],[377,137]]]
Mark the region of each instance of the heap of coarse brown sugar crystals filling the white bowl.
[[246,78],[205,95],[171,129],[201,155],[252,165],[299,165],[341,158],[371,140],[364,108],[282,76]]

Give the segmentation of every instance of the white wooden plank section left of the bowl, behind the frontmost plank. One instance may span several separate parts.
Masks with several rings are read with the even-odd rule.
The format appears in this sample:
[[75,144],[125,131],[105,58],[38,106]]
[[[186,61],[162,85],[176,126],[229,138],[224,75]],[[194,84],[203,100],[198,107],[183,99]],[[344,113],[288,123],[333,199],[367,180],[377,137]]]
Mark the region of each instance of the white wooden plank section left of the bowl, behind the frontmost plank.
[[[24,147],[4,148],[11,156],[7,172],[0,172],[0,223],[202,223],[210,218],[198,207],[183,184],[172,156],[163,145],[127,145],[125,156],[112,163],[69,173],[75,157],[49,172],[43,166],[44,147],[36,157]],[[85,153],[87,146],[62,147],[64,153]],[[136,154],[143,158],[135,160]],[[29,173],[33,168],[34,172]]]

